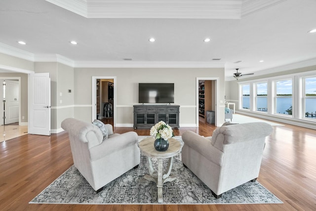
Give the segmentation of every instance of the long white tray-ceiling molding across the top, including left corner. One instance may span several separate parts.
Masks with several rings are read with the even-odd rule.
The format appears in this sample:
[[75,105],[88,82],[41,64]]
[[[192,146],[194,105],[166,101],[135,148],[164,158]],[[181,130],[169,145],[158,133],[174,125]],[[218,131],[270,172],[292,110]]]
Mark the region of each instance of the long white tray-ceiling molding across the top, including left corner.
[[46,0],[86,18],[240,19],[241,0]]

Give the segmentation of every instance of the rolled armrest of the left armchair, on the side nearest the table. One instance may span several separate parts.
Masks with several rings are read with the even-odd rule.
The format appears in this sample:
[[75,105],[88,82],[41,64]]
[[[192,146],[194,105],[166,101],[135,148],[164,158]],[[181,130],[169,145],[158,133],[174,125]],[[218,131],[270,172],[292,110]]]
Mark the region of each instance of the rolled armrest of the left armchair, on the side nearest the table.
[[91,161],[98,160],[106,155],[114,153],[126,146],[136,144],[138,135],[134,131],[118,134],[114,137],[104,140],[101,144],[90,148]]

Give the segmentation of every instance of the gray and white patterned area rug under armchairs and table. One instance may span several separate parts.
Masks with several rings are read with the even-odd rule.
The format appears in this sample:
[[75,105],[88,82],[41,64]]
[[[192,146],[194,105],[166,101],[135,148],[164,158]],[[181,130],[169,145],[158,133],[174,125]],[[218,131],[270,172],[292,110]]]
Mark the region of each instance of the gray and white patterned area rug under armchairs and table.
[[[139,136],[139,140],[145,137]],[[182,142],[181,136],[175,138]],[[152,160],[155,165],[157,160]],[[138,169],[127,171],[97,194],[76,167],[72,166],[30,204],[157,204],[157,186],[143,178],[146,173],[146,157],[141,155]],[[177,175],[177,179],[164,183],[163,204],[282,204],[258,182],[247,182],[224,193],[220,199],[215,199],[211,190],[183,167],[181,153],[175,156],[171,173]]]

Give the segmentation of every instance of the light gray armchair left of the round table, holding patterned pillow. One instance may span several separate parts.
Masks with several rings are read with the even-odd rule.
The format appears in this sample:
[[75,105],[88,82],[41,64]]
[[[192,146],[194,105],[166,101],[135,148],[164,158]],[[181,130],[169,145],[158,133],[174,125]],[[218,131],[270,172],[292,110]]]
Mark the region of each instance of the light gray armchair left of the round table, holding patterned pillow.
[[114,134],[112,125],[105,125],[109,136],[103,140],[99,127],[91,123],[69,118],[61,127],[69,134],[75,167],[97,192],[140,163],[136,132]]

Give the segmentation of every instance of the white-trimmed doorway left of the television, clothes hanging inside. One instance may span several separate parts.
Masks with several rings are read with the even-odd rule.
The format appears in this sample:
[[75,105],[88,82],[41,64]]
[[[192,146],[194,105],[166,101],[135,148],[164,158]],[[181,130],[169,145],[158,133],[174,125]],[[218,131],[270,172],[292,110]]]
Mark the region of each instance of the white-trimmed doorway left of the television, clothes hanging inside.
[[92,77],[92,121],[116,125],[116,77]]

